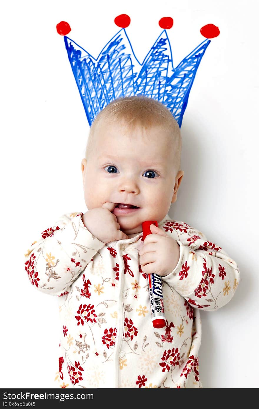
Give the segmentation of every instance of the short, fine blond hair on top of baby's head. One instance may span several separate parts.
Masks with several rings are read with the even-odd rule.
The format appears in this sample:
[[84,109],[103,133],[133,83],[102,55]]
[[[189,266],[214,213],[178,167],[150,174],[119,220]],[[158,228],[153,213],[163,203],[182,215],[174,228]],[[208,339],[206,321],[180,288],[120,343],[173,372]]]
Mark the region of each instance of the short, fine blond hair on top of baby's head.
[[129,130],[140,128],[145,133],[152,127],[161,127],[169,135],[176,170],[180,169],[182,150],[180,128],[169,109],[161,102],[144,95],[120,97],[110,102],[92,122],[86,145],[86,157],[92,147],[95,131],[102,121],[109,124],[123,121]]

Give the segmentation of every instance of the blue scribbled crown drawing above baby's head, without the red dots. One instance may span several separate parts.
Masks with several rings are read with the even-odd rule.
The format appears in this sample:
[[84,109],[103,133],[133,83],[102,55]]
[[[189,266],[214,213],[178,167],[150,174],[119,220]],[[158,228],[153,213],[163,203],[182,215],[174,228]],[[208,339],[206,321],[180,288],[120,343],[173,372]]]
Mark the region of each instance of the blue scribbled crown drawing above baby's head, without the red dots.
[[67,36],[64,40],[90,126],[114,99],[145,95],[162,102],[181,127],[196,71],[210,43],[208,39],[200,43],[174,68],[165,29],[142,64],[124,28],[111,38],[96,59]]

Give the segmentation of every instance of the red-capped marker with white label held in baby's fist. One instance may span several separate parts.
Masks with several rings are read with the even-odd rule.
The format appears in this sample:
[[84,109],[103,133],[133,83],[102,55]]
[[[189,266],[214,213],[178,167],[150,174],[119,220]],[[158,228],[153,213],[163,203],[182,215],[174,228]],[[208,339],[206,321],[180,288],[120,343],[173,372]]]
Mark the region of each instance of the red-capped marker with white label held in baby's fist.
[[[152,234],[150,231],[150,225],[155,225],[156,227],[158,227],[158,222],[147,220],[146,222],[142,223],[144,240],[148,234]],[[158,274],[148,274],[148,279],[149,279],[149,299],[153,327],[164,328],[165,315],[162,279],[161,276]]]

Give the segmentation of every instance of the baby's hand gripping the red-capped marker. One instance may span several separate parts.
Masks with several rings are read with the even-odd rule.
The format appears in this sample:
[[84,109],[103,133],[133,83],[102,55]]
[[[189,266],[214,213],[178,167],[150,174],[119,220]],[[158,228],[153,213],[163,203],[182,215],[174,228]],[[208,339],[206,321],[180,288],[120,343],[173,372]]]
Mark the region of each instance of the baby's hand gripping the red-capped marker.
[[176,240],[155,225],[150,225],[148,234],[140,249],[140,264],[145,274],[167,276],[178,264],[180,249]]

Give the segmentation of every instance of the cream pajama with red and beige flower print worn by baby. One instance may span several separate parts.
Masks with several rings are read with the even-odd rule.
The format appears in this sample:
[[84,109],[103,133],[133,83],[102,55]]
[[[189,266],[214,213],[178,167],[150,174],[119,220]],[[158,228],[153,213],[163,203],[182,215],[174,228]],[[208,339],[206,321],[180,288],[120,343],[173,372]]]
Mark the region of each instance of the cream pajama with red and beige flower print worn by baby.
[[202,388],[199,310],[233,297],[239,270],[225,251],[184,222],[159,227],[180,246],[178,265],[162,277],[165,328],[153,328],[148,281],[139,263],[142,233],[104,244],[68,213],[29,247],[34,287],[59,297],[61,388]]

